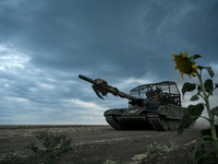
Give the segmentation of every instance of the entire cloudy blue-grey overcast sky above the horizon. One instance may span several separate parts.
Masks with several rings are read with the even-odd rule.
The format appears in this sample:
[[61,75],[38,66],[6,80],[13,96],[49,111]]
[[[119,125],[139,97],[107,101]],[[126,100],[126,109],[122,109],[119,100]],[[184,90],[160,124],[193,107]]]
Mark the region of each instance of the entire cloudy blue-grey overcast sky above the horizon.
[[217,0],[1,0],[0,124],[106,124],[104,112],[128,101],[99,99],[78,74],[126,93],[181,87],[190,79],[171,58],[185,50],[218,80]]

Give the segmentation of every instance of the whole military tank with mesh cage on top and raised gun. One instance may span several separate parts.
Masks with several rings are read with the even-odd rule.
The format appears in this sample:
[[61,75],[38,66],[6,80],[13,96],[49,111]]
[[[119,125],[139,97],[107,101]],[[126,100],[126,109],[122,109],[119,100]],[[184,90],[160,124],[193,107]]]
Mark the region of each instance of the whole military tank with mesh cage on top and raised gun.
[[177,83],[164,81],[138,85],[130,94],[108,85],[105,80],[78,78],[93,83],[98,97],[108,93],[129,99],[128,108],[113,108],[105,112],[107,122],[116,130],[175,130],[187,109],[181,106],[181,96]]

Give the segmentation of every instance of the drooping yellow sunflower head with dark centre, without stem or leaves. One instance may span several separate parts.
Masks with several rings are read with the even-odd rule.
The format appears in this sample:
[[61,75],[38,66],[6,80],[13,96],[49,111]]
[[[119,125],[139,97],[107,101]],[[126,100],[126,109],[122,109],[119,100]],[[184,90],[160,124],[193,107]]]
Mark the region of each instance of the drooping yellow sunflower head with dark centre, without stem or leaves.
[[190,78],[192,77],[196,77],[195,75],[195,69],[197,68],[195,66],[194,60],[192,59],[192,57],[187,57],[187,51],[185,51],[184,54],[180,54],[180,55],[175,55],[174,52],[173,55],[173,59],[172,61],[175,62],[175,70],[180,70],[180,74],[183,79],[183,73],[189,74]]

